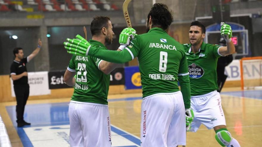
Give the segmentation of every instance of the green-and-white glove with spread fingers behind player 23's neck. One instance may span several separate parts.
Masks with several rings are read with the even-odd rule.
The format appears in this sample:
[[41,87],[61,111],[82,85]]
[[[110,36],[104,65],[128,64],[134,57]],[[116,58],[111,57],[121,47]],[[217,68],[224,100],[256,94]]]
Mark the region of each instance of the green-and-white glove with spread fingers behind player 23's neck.
[[64,42],[67,53],[78,56],[87,56],[91,44],[80,35],[77,35],[76,37],[77,39],[67,38],[66,40],[68,42]]

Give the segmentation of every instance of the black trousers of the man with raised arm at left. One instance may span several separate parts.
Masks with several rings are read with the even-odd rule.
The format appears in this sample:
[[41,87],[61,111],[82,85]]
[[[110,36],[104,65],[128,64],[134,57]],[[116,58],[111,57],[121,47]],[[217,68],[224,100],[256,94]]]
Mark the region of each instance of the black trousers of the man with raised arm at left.
[[24,108],[29,96],[29,84],[14,85],[15,98],[16,98],[16,122],[24,120]]

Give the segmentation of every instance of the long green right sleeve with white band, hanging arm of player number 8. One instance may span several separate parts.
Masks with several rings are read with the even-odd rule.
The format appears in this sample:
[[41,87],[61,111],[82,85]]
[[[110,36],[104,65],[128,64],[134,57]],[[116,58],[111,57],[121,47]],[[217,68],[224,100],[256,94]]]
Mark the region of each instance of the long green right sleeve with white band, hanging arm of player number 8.
[[188,65],[185,53],[183,58],[180,61],[179,70],[178,70],[178,81],[180,84],[181,92],[183,95],[185,109],[190,108],[190,80],[188,73]]

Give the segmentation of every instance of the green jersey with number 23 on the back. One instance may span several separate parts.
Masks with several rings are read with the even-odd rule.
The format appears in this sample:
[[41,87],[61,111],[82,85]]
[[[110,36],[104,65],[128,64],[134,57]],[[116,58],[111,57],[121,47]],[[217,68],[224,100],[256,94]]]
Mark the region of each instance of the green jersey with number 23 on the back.
[[[107,50],[101,42],[90,40],[89,43],[96,50]],[[77,76],[71,100],[107,105],[110,75],[100,71],[101,61],[91,56],[72,56],[67,69],[76,72]]]

